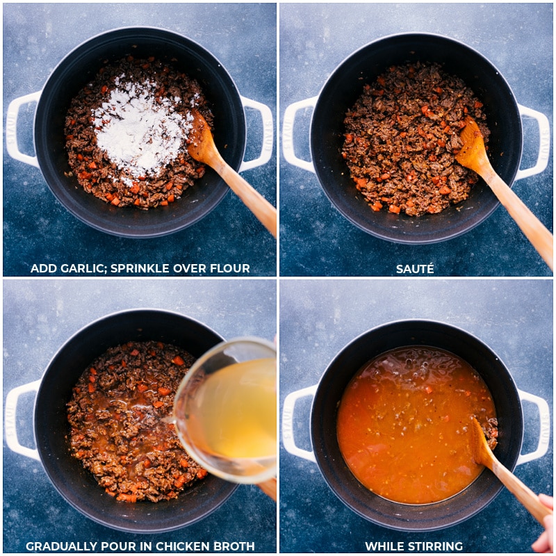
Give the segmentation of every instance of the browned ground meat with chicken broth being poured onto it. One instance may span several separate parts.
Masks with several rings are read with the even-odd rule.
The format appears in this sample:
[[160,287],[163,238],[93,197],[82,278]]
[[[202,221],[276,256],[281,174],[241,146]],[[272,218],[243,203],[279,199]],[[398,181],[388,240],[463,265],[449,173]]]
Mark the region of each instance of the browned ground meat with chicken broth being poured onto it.
[[95,359],[74,387],[70,451],[117,500],[170,500],[207,475],[165,420],[194,360],[172,345],[129,342]]

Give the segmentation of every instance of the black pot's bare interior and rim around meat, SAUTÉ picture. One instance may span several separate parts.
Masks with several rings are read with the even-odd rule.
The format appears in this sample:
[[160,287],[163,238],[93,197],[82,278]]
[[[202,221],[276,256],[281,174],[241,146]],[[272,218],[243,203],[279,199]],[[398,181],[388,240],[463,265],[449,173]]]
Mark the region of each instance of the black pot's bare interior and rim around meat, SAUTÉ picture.
[[370,210],[355,188],[341,157],[345,113],[361,95],[364,83],[372,83],[391,65],[420,60],[438,62],[472,88],[484,104],[491,129],[489,158],[500,177],[512,185],[522,152],[522,126],[518,104],[500,72],[477,51],[440,35],[407,33],[372,42],[354,52],[325,83],[311,122],[311,155],[325,193],[340,213],[360,229],[396,243],[435,243],[454,238],[483,222],[498,200],[482,179],[470,197],[439,214],[419,218]]

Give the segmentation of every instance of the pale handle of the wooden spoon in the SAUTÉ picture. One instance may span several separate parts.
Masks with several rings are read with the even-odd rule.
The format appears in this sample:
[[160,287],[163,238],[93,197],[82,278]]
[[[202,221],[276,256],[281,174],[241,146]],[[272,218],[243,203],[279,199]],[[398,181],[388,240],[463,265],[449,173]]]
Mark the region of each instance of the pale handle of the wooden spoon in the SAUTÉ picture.
[[486,183],[505,206],[509,215],[516,221],[523,234],[530,240],[546,264],[553,268],[553,235],[542,222],[529,210],[523,201],[512,191],[496,172],[490,168],[488,175],[483,175]]

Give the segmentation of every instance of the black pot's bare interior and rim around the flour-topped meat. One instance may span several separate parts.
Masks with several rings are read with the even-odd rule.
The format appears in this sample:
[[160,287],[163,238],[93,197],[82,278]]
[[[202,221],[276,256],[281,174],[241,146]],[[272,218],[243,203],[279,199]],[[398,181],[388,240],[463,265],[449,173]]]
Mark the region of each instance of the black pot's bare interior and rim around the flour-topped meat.
[[[56,67],[40,95],[35,113],[35,152],[44,179],[58,201],[95,229],[133,238],[164,236],[203,218],[222,200],[228,186],[213,170],[188,188],[181,199],[156,210],[117,208],[85,193],[70,170],[64,119],[70,101],[104,64],[128,54],[156,56],[197,79],[213,110],[214,136],[227,163],[238,170],[245,151],[245,114],[239,92],[222,64],[196,42],[158,28],[120,28],[87,40]],[[225,148],[224,148],[225,147]]]

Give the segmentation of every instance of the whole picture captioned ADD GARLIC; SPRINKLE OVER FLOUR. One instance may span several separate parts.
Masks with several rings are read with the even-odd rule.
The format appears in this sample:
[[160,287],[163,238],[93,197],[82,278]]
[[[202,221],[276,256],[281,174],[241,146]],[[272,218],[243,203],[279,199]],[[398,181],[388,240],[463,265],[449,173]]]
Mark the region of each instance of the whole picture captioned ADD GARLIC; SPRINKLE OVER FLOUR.
[[[252,210],[276,219],[276,18],[275,3],[4,4],[3,275],[275,276]],[[192,154],[188,104],[227,166]]]

